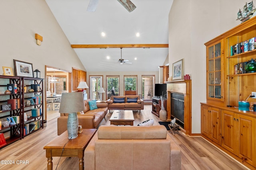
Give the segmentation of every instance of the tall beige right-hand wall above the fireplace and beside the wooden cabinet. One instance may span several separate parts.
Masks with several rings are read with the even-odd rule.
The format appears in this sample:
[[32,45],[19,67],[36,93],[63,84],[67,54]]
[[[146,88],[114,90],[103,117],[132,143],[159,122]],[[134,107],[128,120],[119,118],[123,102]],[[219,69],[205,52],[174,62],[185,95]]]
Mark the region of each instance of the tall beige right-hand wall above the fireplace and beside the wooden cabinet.
[[200,102],[206,102],[204,43],[241,22],[237,13],[246,0],[174,0],[169,14],[169,73],[184,59],[184,74],[192,79],[192,133],[201,133]]

